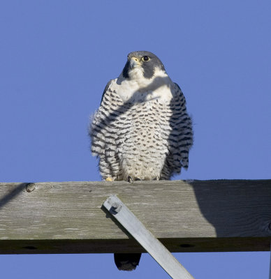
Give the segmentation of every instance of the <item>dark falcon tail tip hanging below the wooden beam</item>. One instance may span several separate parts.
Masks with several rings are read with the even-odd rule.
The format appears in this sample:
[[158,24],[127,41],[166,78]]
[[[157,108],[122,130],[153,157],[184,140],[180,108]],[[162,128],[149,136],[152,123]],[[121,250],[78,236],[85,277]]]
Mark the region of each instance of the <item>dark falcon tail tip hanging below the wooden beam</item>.
[[122,271],[133,271],[136,269],[140,261],[141,254],[114,254],[115,264],[119,270]]

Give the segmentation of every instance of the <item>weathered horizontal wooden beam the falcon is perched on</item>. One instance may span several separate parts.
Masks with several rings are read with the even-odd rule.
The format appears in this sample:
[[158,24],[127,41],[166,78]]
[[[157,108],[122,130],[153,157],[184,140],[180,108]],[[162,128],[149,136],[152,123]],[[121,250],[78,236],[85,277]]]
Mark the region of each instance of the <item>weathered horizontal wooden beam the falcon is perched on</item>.
[[271,180],[0,183],[0,253],[144,252],[117,195],[170,252],[268,251]]

